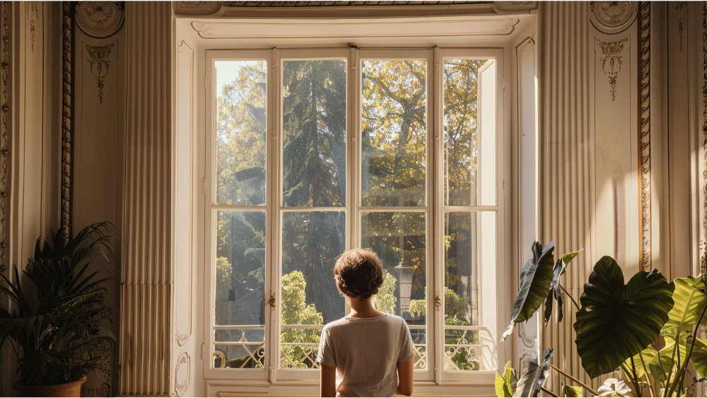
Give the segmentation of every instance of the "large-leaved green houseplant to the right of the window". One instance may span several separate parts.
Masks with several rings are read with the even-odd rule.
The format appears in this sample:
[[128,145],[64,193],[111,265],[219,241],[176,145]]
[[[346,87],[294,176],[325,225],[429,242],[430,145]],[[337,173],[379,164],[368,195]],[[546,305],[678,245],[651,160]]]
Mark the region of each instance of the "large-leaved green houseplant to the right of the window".
[[[544,321],[547,325],[553,302],[561,308],[563,292],[559,276],[566,267],[566,254],[559,260],[550,277],[552,263],[551,242],[544,250],[535,242],[533,259],[523,268],[520,292],[515,301],[511,324],[504,339],[513,332],[513,326],[530,319],[544,303]],[[563,264],[561,264],[563,263]],[[614,259],[605,256],[595,264],[584,293],[581,308],[575,300],[575,344],[582,366],[592,378],[614,370],[624,375],[625,381],[607,379],[604,387],[594,391],[575,377],[554,367],[544,358],[543,365],[532,363],[520,380],[534,377],[532,388],[521,388],[515,370],[507,365],[503,375],[496,375],[496,393],[499,398],[528,398],[537,396],[549,369],[565,375],[578,387],[563,386],[561,396],[581,395],[581,389],[594,396],[619,396],[633,391],[638,398],[679,398],[686,387],[706,380],[707,341],[699,339],[700,325],[706,325],[707,260],[701,258],[701,275],[696,278],[678,278],[668,283],[658,270],[638,271],[624,284],[624,274]],[[542,298],[542,292],[546,296]],[[559,320],[561,316],[559,315]],[[551,352],[551,351],[550,351]],[[547,351],[546,351],[547,357]],[[551,358],[551,354],[550,354]],[[697,374],[690,372],[694,365]],[[625,384],[624,384],[625,383]],[[553,392],[545,390],[554,397]]]

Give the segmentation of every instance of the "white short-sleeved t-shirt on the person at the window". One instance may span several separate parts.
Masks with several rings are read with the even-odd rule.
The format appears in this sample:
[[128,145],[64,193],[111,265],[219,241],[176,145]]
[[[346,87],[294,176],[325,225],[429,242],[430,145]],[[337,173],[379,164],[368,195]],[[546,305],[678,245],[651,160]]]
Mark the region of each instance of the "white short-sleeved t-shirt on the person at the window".
[[317,363],[337,367],[337,397],[391,398],[397,390],[397,363],[413,354],[410,330],[401,317],[344,317],[322,329]]

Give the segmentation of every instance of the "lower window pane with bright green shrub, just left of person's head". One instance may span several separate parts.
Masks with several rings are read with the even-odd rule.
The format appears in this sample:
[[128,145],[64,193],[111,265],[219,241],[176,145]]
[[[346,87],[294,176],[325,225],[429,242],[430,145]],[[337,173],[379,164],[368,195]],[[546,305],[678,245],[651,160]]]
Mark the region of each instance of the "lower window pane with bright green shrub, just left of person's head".
[[322,326],[344,317],[334,264],[345,242],[345,211],[282,213],[281,368],[317,368]]

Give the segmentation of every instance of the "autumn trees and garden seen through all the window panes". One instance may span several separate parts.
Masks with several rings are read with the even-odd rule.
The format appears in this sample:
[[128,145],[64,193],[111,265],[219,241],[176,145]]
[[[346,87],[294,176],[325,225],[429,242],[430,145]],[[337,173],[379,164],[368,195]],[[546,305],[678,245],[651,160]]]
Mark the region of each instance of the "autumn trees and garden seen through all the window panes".
[[[445,206],[477,204],[477,74],[484,62],[444,62],[440,185]],[[427,67],[423,60],[364,60],[361,65],[361,187],[354,190],[364,208],[361,247],[377,252],[387,272],[378,308],[412,326],[426,324],[428,303]],[[272,134],[266,131],[266,62],[216,62],[216,69],[216,204],[264,206],[266,171],[275,164],[266,159]],[[344,316],[345,303],[332,270],[346,247],[343,208],[351,178],[346,175],[346,60],[285,60],[281,73],[283,211],[282,230],[276,233],[282,303],[277,309],[282,324],[326,324]],[[375,211],[382,206],[386,211]],[[419,210],[390,209],[399,206]],[[218,210],[215,221],[215,324],[264,325],[269,308],[264,207]],[[445,212],[445,324],[478,324],[476,242],[477,214]],[[416,344],[426,344],[424,328],[411,331]],[[448,330],[445,341],[473,344],[475,333]],[[227,366],[259,366],[264,329],[215,334],[215,349]],[[311,350],[319,336],[316,328],[282,329],[281,367],[313,367]],[[462,351],[452,360],[462,370],[474,368]]]

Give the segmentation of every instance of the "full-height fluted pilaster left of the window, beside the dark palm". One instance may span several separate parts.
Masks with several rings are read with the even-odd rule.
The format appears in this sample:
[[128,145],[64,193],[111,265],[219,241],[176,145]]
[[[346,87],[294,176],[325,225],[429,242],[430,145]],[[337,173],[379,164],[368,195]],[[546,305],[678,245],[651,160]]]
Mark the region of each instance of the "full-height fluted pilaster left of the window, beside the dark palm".
[[170,393],[172,2],[126,1],[122,395]]

